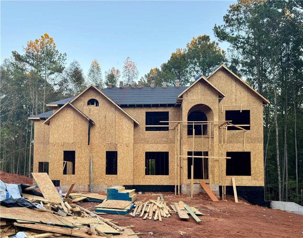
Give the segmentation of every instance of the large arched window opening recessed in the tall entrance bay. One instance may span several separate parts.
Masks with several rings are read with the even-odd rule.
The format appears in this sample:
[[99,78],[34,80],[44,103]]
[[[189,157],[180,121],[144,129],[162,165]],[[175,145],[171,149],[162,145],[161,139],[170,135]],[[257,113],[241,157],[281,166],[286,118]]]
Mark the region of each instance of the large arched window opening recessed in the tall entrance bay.
[[[207,121],[207,116],[204,112],[193,111],[187,116],[187,121]],[[194,125],[195,135],[207,135],[207,125]],[[187,124],[187,135],[193,135],[193,123]]]

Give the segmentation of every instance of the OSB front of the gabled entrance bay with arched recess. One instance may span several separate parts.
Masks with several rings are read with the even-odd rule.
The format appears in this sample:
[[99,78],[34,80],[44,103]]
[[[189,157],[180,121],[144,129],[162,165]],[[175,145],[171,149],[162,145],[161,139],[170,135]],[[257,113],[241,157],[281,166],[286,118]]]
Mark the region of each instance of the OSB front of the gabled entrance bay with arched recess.
[[[187,121],[187,116],[189,112],[192,112],[194,108],[197,108],[198,104],[207,105],[207,110],[205,114],[208,121],[218,121],[218,103],[219,96],[218,91],[213,87],[208,85],[205,81],[201,80],[192,86],[187,92],[183,94],[182,100],[182,120]],[[193,108],[194,107],[194,108]],[[225,120],[225,119],[224,119]],[[193,150],[193,139],[192,136],[187,136],[187,125],[183,124],[183,133],[182,138],[182,154],[187,155],[188,151]],[[211,148],[210,155],[218,156],[218,123],[211,125]],[[195,149],[194,151],[202,151],[202,140],[203,140],[203,151],[208,151],[209,145],[209,126],[207,126],[207,136],[197,136],[195,138]],[[211,159],[212,160],[212,159]],[[182,174],[181,174],[181,183],[190,183],[190,179],[187,179],[187,157],[181,157]],[[215,175],[212,177],[212,183],[218,183],[218,167],[214,161],[211,161],[211,174]],[[202,179],[194,179],[194,183],[202,182]],[[208,182],[208,180],[204,180]]]

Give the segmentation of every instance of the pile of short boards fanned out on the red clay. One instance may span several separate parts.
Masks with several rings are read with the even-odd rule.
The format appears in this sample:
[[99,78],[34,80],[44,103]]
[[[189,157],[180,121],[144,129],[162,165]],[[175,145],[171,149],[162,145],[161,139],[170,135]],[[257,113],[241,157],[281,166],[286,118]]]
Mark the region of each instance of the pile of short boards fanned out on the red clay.
[[171,213],[172,210],[166,205],[165,201],[148,200],[147,202],[137,202],[132,216],[139,215],[139,217],[143,217],[144,215],[144,220],[148,218],[149,220],[162,221],[162,218],[170,217]]

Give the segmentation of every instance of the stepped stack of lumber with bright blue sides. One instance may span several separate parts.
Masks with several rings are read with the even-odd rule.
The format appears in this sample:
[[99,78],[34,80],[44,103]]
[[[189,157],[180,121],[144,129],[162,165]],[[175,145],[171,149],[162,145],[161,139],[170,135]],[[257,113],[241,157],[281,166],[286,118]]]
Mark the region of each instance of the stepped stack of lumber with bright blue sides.
[[124,201],[136,201],[137,194],[135,189],[126,190],[122,186],[109,187],[107,189],[107,200],[124,200]]

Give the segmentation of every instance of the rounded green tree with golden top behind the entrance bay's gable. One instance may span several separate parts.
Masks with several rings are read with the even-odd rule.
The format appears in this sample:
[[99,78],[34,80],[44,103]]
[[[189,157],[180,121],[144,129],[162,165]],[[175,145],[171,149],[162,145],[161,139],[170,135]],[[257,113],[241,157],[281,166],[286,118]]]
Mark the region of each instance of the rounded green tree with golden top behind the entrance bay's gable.
[[186,47],[188,73],[192,78],[201,74],[209,75],[215,67],[225,61],[225,52],[219,47],[218,42],[211,42],[208,35],[193,37]]

